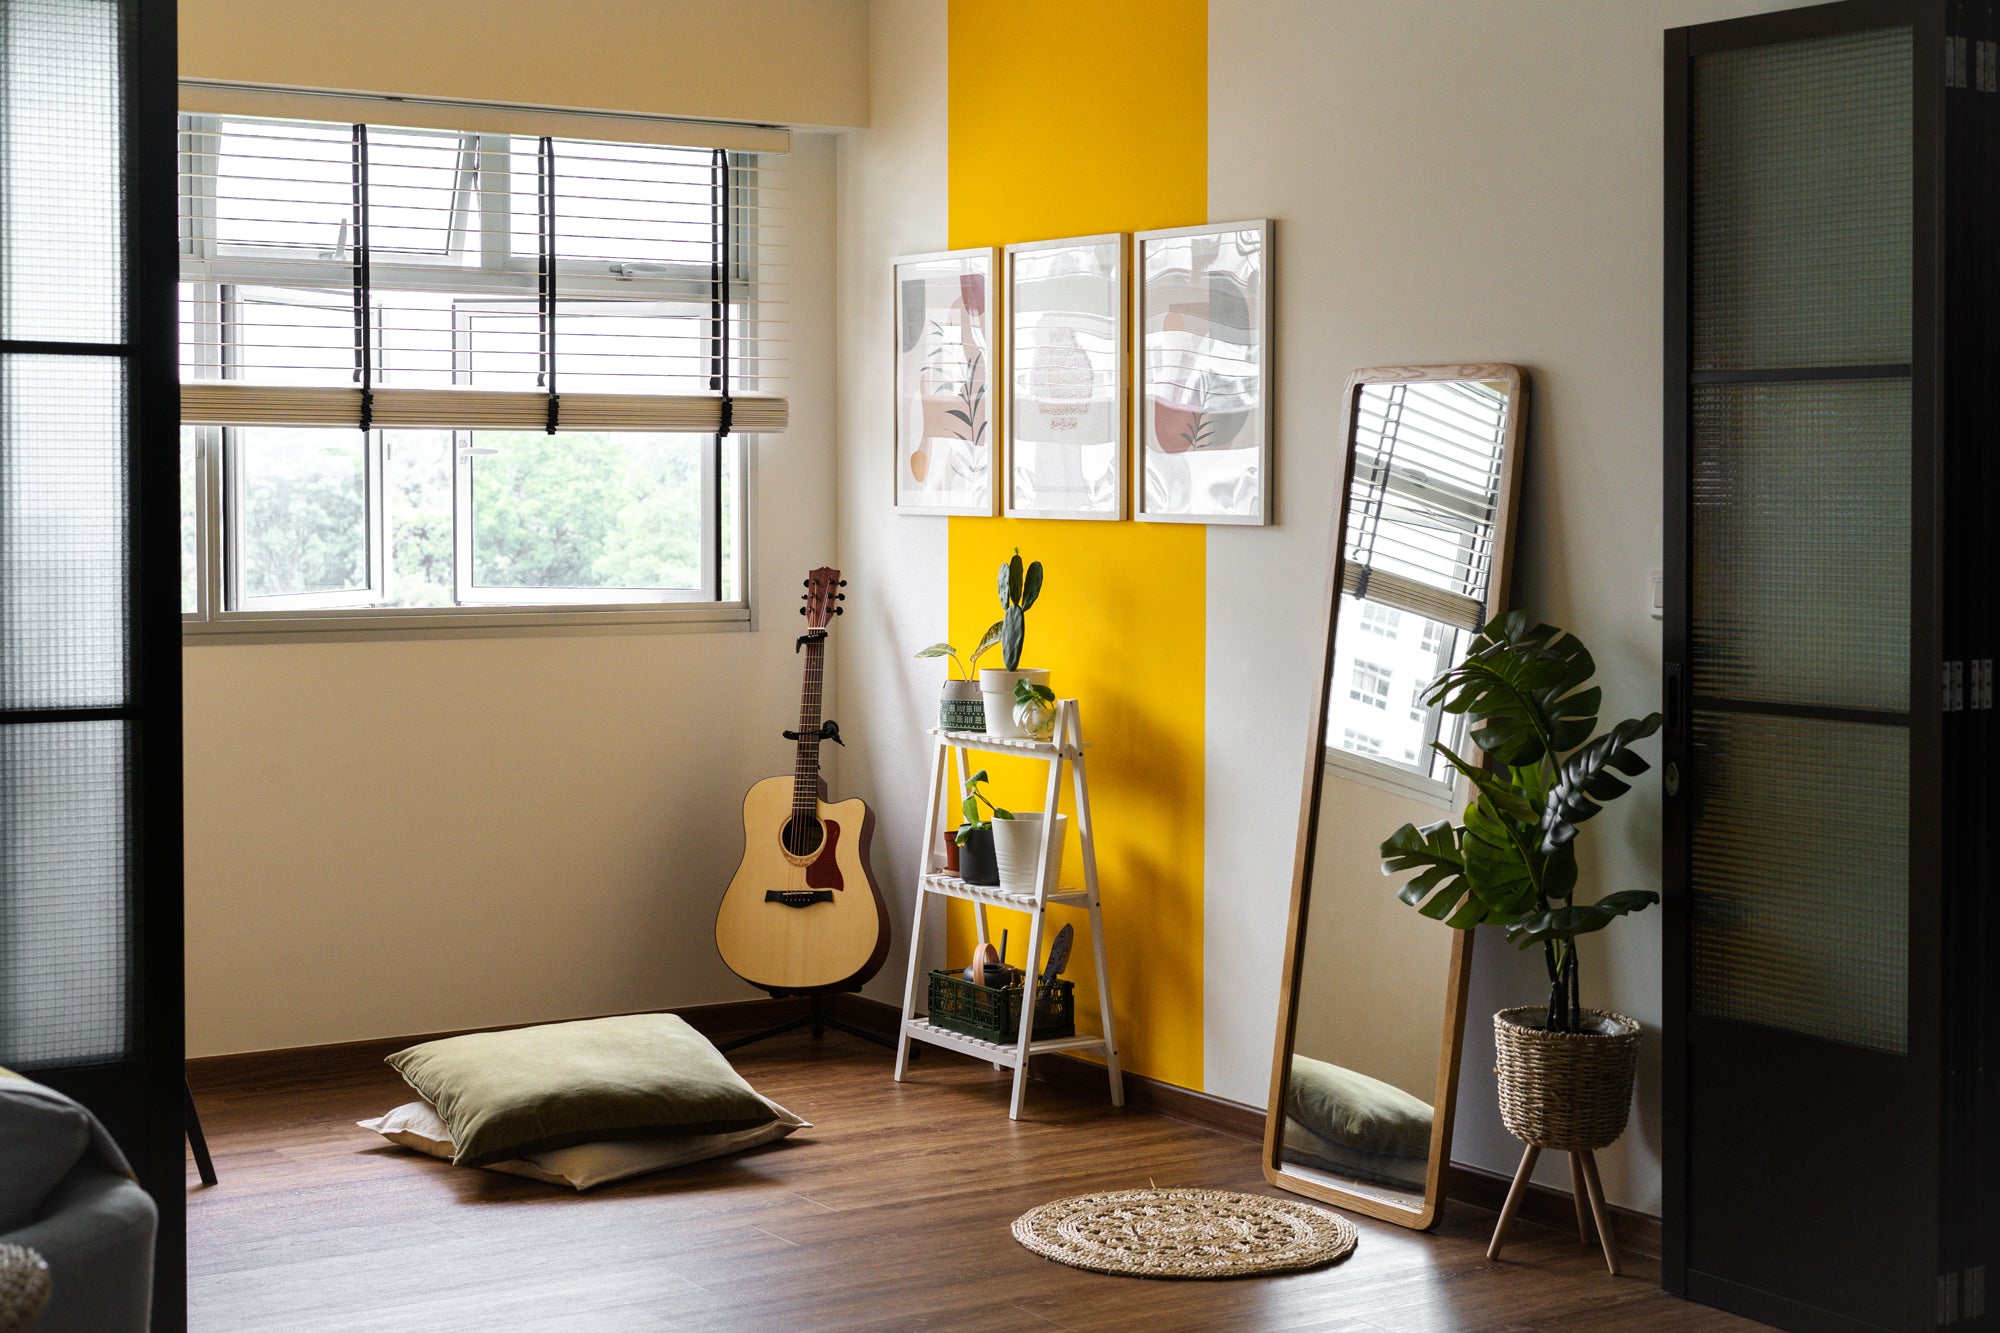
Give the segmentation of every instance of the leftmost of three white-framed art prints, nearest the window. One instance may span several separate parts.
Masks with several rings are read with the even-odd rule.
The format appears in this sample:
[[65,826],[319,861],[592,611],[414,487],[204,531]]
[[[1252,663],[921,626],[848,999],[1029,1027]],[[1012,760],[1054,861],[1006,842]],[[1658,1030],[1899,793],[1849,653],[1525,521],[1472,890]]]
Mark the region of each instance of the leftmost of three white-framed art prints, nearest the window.
[[992,248],[896,260],[896,508],[996,512]]

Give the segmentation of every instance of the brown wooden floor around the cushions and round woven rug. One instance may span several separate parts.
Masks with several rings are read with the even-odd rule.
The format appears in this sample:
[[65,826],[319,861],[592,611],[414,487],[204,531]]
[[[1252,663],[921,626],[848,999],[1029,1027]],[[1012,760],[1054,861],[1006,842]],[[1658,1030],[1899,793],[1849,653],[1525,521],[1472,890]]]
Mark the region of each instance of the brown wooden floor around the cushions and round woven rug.
[[1356,1217],[1316,1273],[1102,1277],[1030,1255],[1008,1223],[1096,1189],[1270,1191],[1256,1145],[926,1051],[912,1081],[852,1037],[736,1053],[814,1123],[754,1153],[574,1195],[384,1145],[354,1121],[408,1099],[374,1053],[196,1071],[222,1183],[188,1173],[190,1321],[222,1329],[1754,1329],[1610,1277],[1574,1233],[1446,1205],[1432,1235]]

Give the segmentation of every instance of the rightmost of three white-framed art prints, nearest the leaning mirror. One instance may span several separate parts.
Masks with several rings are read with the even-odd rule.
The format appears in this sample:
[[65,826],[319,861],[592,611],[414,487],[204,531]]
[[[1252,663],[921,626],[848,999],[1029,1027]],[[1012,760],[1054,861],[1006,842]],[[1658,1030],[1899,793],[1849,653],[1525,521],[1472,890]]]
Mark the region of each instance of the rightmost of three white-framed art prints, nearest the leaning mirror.
[[1134,510],[1270,522],[1270,222],[1132,236]]

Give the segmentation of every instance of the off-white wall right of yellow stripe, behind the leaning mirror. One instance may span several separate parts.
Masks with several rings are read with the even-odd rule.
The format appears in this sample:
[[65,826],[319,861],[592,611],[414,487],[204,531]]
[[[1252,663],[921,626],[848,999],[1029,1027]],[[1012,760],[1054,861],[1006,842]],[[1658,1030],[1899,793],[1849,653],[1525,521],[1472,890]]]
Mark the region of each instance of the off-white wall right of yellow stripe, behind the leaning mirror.
[[[1770,8],[1210,0],[1208,216],[1278,218],[1280,522],[1208,538],[1210,1093],[1262,1105],[1270,1073],[1350,370],[1528,366],[1514,600],[1590,644],[1610,719],[1658,707],[1662,32]],[[1580,849],[1584,891],[1658,889],[1658,789],[1640,783]],[[1582,959],[1584,1001],[1652,1033],[1634,1125],[1600,1161],[1612,1201],[1658,1213],[1658,911]],[[1482,935],[1456,1159],[1514,1169],[1488,1015],[1544,991],[1536,955]],[[1540,1179],[1566,1189],[1562,1171],[1554,1157]]]

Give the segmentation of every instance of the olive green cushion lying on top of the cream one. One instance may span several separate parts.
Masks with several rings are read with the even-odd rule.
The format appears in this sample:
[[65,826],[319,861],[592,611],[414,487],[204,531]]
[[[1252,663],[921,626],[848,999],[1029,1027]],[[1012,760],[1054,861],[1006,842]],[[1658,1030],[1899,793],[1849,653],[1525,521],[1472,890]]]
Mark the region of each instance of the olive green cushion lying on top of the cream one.
[[462,1167],[602,1139],[728,1135],[776,1119],[706,1037],[668,1013],[446,1037],[388,1063],[436,1107]]

